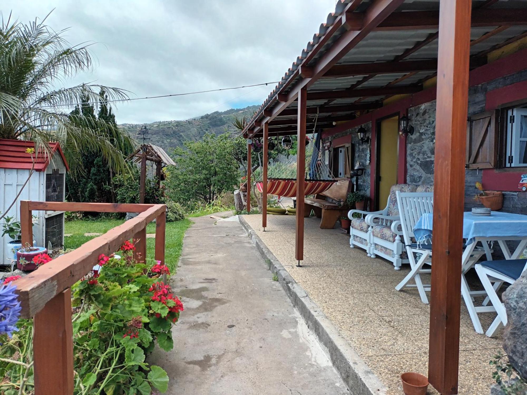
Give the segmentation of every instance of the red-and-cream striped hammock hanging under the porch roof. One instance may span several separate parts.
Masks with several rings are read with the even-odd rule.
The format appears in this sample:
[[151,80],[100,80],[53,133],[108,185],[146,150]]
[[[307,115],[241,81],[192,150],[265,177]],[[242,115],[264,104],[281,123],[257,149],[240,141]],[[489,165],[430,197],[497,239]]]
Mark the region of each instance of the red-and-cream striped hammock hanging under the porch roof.
[[[306,147],[304,187],[304,195],[306,196],[323,193],[337,181],[328,166],[319,157],[320,135],[321,132],[316,133],[316,136],[309,140],[309,145]],[[296,155],[287,162],[272,163],[268,167],[267,194],[295,197],[297,193],[296,168]],[[256,187],[259,192],[263,192],[262,181],[257,182]]]

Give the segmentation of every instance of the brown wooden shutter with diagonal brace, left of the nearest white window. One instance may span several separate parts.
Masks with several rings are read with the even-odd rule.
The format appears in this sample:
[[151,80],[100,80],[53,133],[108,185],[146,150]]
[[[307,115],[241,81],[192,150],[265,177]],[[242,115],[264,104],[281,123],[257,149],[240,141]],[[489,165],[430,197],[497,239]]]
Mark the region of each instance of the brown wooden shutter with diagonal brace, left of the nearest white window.
[[466,168],[497,167],[499,110],[472,115],[467,122]]

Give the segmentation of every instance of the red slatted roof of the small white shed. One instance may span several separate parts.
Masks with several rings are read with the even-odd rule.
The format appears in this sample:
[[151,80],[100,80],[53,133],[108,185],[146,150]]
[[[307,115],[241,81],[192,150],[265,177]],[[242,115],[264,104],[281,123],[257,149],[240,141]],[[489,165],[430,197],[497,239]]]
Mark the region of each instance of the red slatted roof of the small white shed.
[[[67,165],[64,153],[58,143],[49,143],[52,153],[58,151],[61,155],[62,161],[66,166],[66,170],[70,170]],[[35,171],[41,172],[46,170],[47,165],[50,164],[50,157],[44,155],[42,150],[35,154],[27,153],[28,148],[35,148],[35,143],[32,141],[23,140],[5,140],[0,139],[0,169],[27,169],[31,170],[33,165],[33,158],[35,158]]]

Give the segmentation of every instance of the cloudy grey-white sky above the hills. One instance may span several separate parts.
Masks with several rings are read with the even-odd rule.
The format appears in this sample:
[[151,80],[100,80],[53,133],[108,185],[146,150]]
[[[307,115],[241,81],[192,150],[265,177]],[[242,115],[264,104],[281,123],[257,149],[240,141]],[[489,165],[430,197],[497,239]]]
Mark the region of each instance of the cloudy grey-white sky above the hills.
[[[72,44],[93,41],[93,73],[82,82],[120,87],[131,97],[279,81],[335,0],[3,0],[19,21],[69,27]],[[184,120],[261,104],[274,86],[119,104],[118,123]]]

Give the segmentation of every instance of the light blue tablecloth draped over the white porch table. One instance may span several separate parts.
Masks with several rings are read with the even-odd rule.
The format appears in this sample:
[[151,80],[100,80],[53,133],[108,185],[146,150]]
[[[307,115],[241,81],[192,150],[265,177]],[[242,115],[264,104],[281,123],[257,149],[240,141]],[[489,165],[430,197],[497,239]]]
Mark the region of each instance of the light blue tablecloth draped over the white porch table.
[[[417,243],[427,244],[432,240],[433,214],[426,213],[419,218],[414,226]],[[527,238],[527,215],[493,211],[490,216],[472,215],[470,211],[463,213],[463,239],[467,244],[477,237],[524,237]]]

